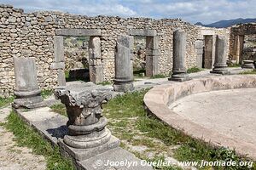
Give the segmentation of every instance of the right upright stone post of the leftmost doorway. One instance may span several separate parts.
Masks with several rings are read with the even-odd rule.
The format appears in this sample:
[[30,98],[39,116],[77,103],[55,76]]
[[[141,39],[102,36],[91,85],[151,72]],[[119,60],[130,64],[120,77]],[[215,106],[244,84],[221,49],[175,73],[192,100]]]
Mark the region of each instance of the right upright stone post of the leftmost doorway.
[[102,48],[100,37],[90,37],[89,65],[90,82],[103,82]]

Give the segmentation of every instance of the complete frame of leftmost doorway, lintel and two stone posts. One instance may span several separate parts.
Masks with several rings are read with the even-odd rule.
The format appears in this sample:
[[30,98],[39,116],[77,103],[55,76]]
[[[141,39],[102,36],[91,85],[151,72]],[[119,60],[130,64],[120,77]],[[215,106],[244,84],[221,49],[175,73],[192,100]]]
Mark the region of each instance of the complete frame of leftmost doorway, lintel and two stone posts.
[[90,82],[103,82],[103,68],[102,68],[102,49],[100,29],[58,29],[55,31],[54,50],[55,62],[51,65],[51,69],[58,72],[57,82],[59,86],[66,85],[65,79],[65,59],[64,59],[64,45],[63,37],[90,37],[89,41],[89,69]]

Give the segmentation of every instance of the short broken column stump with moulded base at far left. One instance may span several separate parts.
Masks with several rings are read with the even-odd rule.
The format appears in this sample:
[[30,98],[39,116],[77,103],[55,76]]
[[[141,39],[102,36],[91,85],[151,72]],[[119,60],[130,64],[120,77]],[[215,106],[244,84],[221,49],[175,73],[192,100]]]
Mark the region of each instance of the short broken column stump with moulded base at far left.
[[41,90],[38,88],[35,59],[14,57],[14,63],[16,99],[13,106],[28,109],[44,106]]

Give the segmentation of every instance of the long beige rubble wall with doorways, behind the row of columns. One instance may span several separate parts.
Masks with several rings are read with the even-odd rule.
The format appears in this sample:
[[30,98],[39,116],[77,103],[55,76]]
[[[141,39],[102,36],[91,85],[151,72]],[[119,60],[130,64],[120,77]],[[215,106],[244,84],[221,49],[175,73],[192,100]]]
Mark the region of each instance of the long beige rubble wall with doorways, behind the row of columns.
[[[172,71],[172,34],[177,28],[187,33],[187,67],[196,64],[195,41],[199,28],[182,20],[148,18],[88,17],[61,12],[24,13],[22,9],[0,5],[0,94],[8,96],[15,88],[13,57],[35,57],[40,88],[57,85],[54,37],[57,29],[100,29],[104,81],[114,77],[114,50],[119,35],[130,29],[155,30],[160,37],[159,74]],[[72,59],[67,59],[72,60]]]

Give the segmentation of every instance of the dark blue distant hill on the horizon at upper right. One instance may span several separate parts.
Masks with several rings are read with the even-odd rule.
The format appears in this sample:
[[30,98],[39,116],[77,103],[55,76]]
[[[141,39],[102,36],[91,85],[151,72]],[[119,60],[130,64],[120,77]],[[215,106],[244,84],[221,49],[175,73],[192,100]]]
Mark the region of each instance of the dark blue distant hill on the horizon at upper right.
[[196,26],[207,26],[207,27],[216,27],[216,28],[226,28],[229,26],[234,26],[236,24],[244,24],[244,23],[250,23],[250,22],[256,22],[256,19],[236,19],[236,20],[220,20],[218,22],[214,22],[212,24],[204,25],[201,22],[195,23]]

